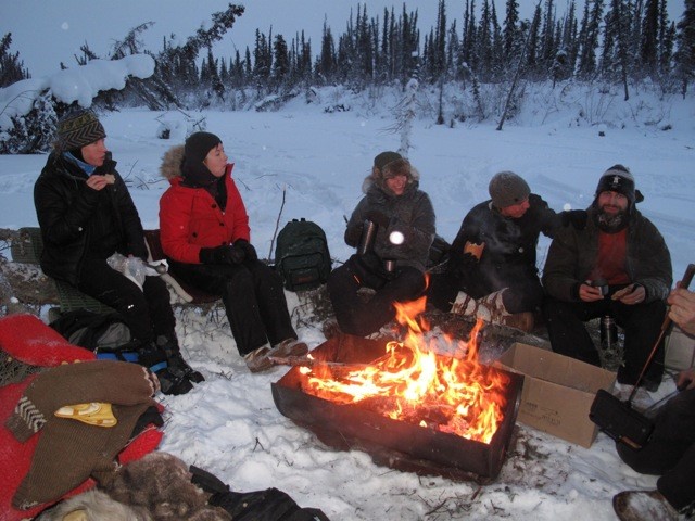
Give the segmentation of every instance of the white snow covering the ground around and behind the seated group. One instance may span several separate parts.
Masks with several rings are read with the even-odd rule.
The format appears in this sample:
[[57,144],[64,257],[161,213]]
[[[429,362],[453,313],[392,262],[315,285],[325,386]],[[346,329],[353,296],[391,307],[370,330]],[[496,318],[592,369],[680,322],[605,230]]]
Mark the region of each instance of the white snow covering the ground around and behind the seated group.
[[[93,92],[93,85],[74,85],[76,96]],[[488,199],[488,182],[497,171],[523,176],[556,209],[582,208],[591,204],[601,174],[622,163],[645,195],[641,211],[669,245],[678,280],[695,251],[693,96],[683,100],[643,88],[623,102],[610,89],[601,94],[579,86],[558,90],[528,87],[517,118],[502,131],[495,130],[496,122],[437,126],[435,111],[419,107],[408,156],[434,205],[438,232],[453,240],[468,209]],[[343,216],[362,196],[372,157],[401,142],[391,130],[397,98],[386,90],[383,96],[376,100],[369,93],[326,89],[309,104],[299,97],[275,113],[189,114],[222,138],[235,163],[252,242],[262,257],[273,256],[278,227],[299,217],[326,230],[338,262],[349,257]],[[337,104],[352,109],[325,112]],[[180,114],[126,110],[101,120],[144,227],[159,227],[157,202],[167,186],[159,166],[164,152],[184,138]],[[175,139],[156,138],[163,122],[180,124]],[[0,156],[0,227],[37,226],[33,186],[45,162],[45,155]],[[543,239],[539,246],[541,267],[547,245]],[[296,319],[300,297],[287,296]],[[270,383],[287,368],[249,373],[220,308],[207,314],[179,309],[177,318],[184,356],[206,381],[187,395],[162,396],[161,449],[213,472],[233,490],[275,486],[333,520],[601,521],[615,519],[611,497],[617,492],[655,486],[654,476],[636,474],[619,460],[604,434],[586,449],[518,425],[500,476],[485,485],[420,478],[376,466],[361,452],[331,450],[278,412]],[[312,348],[325,341],[320,326],[298,326]],[[666,381],[659,394],[671,389],[673,383]]]

